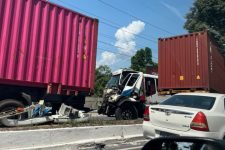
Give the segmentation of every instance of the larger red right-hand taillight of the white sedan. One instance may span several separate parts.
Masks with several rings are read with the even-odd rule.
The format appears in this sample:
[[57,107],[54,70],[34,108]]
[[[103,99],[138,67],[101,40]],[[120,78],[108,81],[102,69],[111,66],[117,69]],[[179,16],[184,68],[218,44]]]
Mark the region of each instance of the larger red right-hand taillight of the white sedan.
[[191,129],[198,131],[209,131],[206,116],[203,112],[198,112],[191,122]]

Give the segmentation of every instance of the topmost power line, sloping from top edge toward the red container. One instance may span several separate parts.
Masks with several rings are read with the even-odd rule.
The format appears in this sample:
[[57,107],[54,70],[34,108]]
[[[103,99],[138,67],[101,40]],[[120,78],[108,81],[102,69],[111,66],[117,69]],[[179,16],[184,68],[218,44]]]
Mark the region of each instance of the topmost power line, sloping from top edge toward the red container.
[[132,14],[130,14],[130,13],[128,13],[128,12],[122,10],[122,9],[119,9],[119,8],[117,8],[117,7],[115,7],[115,6],[111,5],[111,4],[109,4],[109,3],[106,3],[106,2],[104,2],[104,1],[102,1],[102,0],[98,0],[98,1],[99,1],[100,3],[102,3],[102,4],[106,5],[106,6],[108,6],[108,7],[111,7],[111,8],[113,8],[113,9],[115,9],[115,10],[117,10],[117,11],[123,13],[123,14],[126,14],[126,15],[128,15],[128,16],[131,16],[131,17],[133,17],[133,18],[135,18],[135,19],[141,20],[141,21],[145,22],[147,25],[149,25],[149,26],[151,26],[151,27],[153,27],[153,28],[155,28],[155,29],[158,29],[158,30],[161,30],[161,31],[164,31],[164,32],[166,32],[166,33],[169,33],[169,34],[172,34],[172,35],[173,35],[173,33],[171,33],[170,31],[168,31],[168,30],[166,30],[166,29],[163,29],[163,28],[161,28],[161,27],[158,27],[158,26],[156,26],[156,25],[153,25],[153,24],[149,23],[148,21],[145,21],[145,20],[143,20],[143,19],[141,19],[141,18],[138,18],[138,17],[136,17],[136,16],[134,16],[134,15],[132,15]]

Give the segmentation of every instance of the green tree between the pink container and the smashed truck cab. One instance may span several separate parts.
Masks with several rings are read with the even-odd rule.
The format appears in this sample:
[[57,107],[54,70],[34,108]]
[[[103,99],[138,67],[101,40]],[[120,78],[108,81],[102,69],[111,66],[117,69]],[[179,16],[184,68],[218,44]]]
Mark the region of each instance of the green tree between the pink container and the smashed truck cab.
[[95,71],[95,87],[94,95],[101,97],[106,83],[109,81],[111,76],[111,69],[106,65],[99,66]]

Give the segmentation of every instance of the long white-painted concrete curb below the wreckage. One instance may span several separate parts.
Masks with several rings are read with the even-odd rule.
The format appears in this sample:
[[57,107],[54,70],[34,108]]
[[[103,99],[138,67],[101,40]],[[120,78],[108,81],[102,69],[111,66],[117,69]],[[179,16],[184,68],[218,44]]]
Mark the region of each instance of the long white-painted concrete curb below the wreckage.
[[76,149],[76,145],[143,135],[142,124],[0,132],[0,150]]

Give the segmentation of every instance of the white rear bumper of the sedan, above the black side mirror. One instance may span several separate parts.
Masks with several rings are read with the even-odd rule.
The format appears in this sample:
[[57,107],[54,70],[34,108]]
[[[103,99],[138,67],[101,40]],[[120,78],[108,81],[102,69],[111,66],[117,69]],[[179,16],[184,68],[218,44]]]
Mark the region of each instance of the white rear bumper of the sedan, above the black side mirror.
[[204,131],[196,131],[196,130],[188,130],[188,131],[178,131],[173,129],[168,129],[164,127],[159,127],[152,125],[149,122],[143,122],[143,135],[145,138],[156,138],[160,135],[160,133],[168,133],[168,136],[194,136],[194,137],[205,137],[205,138],[214,138],[214,139],[222,139],[221,134],[219,132],[204,132]]

